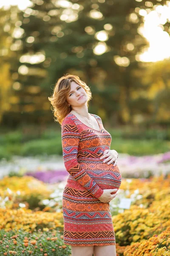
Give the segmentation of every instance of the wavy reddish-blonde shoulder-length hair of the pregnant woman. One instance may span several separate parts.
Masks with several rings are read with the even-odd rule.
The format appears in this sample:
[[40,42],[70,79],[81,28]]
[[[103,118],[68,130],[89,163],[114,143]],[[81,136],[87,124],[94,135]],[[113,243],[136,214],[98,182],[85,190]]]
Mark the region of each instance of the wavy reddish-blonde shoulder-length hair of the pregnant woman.
[[87,93],[87,106],[90,99],[92,99],[90,88],[85,82],[80,80],[78,76],[66,74],[60,77],[54,87],[53,95],[48,97],[52,105],[51,110],[54,112],[54,121],[59,122],[60,125],[62,124],[62,120],[65,118],[65,116],[67,116],[67,114],[71,111],[71,106],[68,107],[68,103],[66,102],[66,95],[70,91],[72,81],[81,85]]

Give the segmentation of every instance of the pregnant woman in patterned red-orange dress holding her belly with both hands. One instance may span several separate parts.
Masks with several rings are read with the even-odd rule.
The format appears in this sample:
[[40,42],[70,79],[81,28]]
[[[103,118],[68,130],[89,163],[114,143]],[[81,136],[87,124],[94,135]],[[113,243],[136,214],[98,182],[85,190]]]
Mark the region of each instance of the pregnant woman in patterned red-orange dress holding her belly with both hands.
[[72,256],[116,256],[109,202],[121,184],[118,153],[102,119],[88,113],[90,88],[78,76],[62,76],[51,101],[62,128],[62,152],[69,175],[62,196],[64,244]]

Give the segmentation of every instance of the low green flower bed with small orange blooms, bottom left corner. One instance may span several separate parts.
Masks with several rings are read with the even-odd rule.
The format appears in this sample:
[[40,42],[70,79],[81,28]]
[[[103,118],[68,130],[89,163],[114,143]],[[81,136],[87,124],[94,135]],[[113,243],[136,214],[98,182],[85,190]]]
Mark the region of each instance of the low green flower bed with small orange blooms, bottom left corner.
[[0,230],[0,255],[71,256],[71,248],[63,244],[59,230]]

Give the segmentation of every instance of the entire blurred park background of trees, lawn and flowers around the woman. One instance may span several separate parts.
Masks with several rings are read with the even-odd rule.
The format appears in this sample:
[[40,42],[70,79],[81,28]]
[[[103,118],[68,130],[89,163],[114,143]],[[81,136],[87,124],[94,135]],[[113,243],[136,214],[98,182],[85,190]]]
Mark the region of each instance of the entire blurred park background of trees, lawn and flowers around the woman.
[[[170,218],[170,1],[1,0],[0,38],[0,214],[13,216],[13,221],[3,220],[1,235],[8,231],[10,237],[10,230],[23,228],[38,236],[42,230],[43,244],[51,227],[63,231],[62,190],[68,172],[61,127],[54,122],[48,96],[57,79],[70,73],[91,88],[89,113],[102,118],[112,136],[111,149],[119,153],[124,180],[111,211],[114,221],[125,218],[125,223],[122,230],[115,227],[117,255],[147,256],[151,250],[152,255],[168,255],[170,230],[162,223]],[[125,198],[131,198],[136,220],[143,216],[135,231],[126,219],[131,208],[121,208]],[[162,198],[164,207],[156,217]],[[25,224],[9,209],[19,211],[15,214]],[[39,211],[41,221],[29,209]],[[159,248],[155,235],[160,235]],[[45,248],[54,245],[52,238],[53,233]],[[58,249],[54,246],[50,255],[69,255],[62,235],[57,241]],[[135,254],[136,242],[141,254]],[[41,255],[40,248],[33,251]]]

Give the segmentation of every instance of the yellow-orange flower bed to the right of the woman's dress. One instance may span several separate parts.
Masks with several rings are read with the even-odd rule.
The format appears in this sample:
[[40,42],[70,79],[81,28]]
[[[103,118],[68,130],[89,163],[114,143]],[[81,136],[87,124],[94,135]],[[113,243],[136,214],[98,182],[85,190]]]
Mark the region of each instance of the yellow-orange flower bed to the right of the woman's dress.
[[[126,188],[128,180],[122,183]],[[137,193],[134,193],[138,188]],[[130,209],[113,216],[117,256],[167,256],[170,250],[170,176],[150,181],[131,180]],[[140,193],[140,194],[139,194]]]

